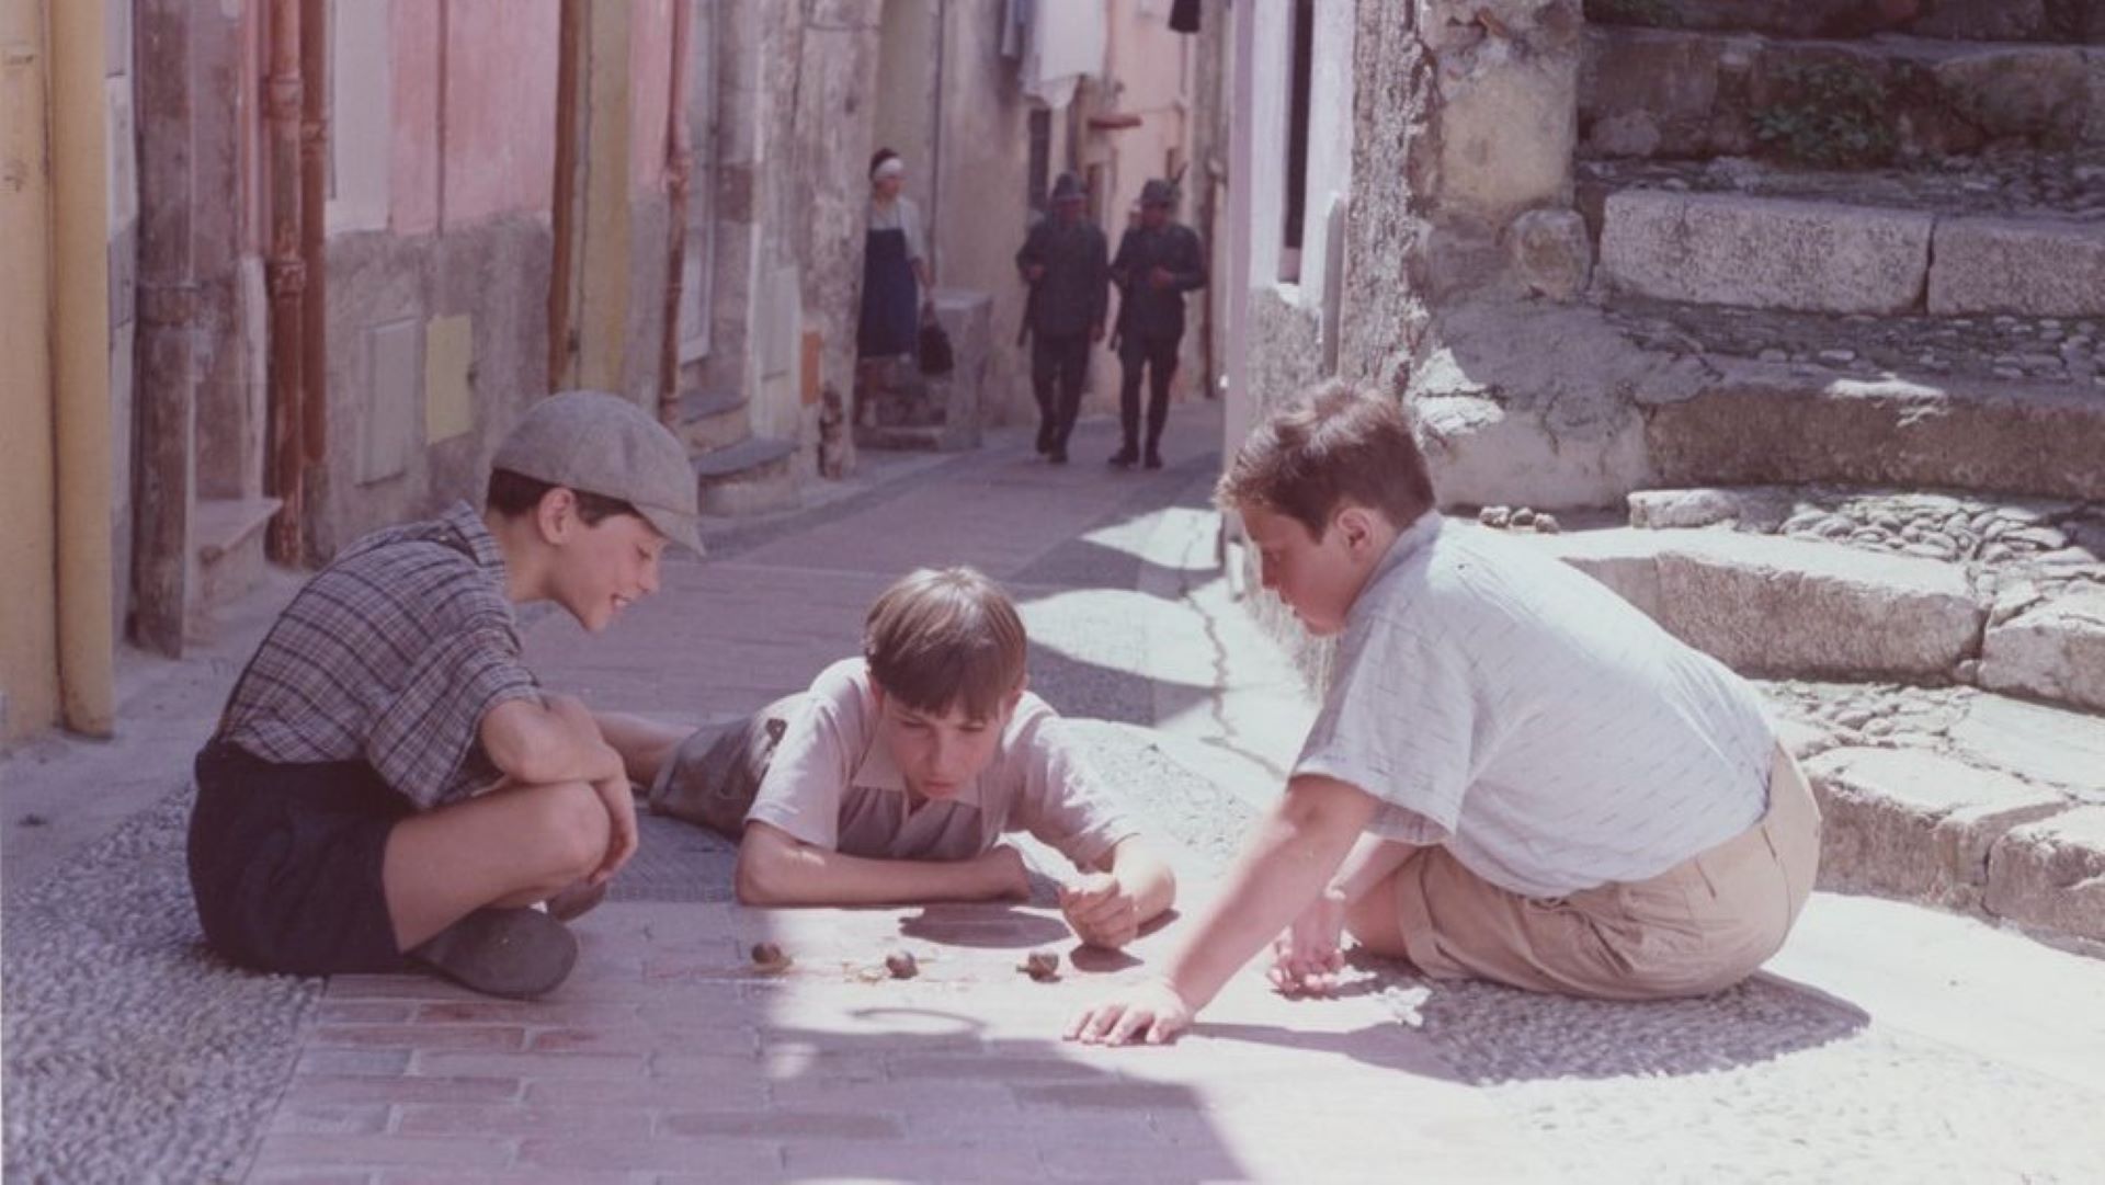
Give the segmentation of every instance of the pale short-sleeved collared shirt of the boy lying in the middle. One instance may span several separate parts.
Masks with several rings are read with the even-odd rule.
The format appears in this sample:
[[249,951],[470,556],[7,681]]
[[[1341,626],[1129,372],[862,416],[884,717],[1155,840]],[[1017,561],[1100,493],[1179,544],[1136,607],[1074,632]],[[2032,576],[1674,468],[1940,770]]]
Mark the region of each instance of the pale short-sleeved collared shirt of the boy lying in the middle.
[[1137,827],[1116,810],[1046,701],[1025,692],[987,768],[956,798],[907,810],[907,783],[878,739],[863,659],[810,684],[747,821],[850,857],[962,861],[1029,831],[1076,867],[1095,867]]

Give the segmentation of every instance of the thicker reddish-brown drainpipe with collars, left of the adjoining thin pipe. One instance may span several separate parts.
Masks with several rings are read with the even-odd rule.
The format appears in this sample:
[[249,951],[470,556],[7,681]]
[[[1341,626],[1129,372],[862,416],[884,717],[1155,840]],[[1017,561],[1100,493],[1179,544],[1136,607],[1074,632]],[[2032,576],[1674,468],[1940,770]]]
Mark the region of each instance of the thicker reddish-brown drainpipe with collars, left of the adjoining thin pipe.
[[305,379],[301,364],[301,309],[307,265],[301,259],[301,38],[303,0],[269,0],[269,82],[263,91],[267,133],[265,177],[269,179],[269,493],[282,499],[269,524],[269,556],[299,562],[299,520],[305,484]]

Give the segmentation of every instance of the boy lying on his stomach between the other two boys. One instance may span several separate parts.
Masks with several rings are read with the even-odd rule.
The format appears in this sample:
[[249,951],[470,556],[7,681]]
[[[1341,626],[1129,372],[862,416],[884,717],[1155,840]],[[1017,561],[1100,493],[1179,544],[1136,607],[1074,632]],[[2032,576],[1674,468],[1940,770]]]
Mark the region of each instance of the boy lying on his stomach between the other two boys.
[[1114,808],[1059,716],[1023,688],[1025,634],[1008,596],[970,568],[918,570],[878,598],[863,657],[724,735],[663,760],[659,810],[739,842],[747,905],[903,905],[1029,897],[1010,831],[1082,876],[1059,903],[1076,937],[1122,947],[1168,909],[1175,878]]

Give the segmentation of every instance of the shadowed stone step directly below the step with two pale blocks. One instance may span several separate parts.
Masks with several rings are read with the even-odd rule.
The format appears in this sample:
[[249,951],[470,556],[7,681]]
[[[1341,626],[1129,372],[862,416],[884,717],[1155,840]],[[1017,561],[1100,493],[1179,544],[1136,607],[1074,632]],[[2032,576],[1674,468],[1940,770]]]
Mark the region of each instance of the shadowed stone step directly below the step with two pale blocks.
[[1650,484],[1844,484],[2105,499],[2088,381],[1833,377],[1707,358],[1686,398],[1640,394]]

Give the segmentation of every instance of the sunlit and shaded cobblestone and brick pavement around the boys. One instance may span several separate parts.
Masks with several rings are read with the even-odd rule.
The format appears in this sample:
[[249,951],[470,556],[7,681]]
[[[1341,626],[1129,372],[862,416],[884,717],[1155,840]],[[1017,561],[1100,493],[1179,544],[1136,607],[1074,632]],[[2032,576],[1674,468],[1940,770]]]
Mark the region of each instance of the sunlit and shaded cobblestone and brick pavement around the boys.
[[[905,566],[981,564],[1023,600],[1034,686],[1175,846],[1187,918],[1309,716],[1215,558],[1217,425],[1179,408],[1164,474],[1105,471],[1101,421],[1065,469],[1002,431],[724,526],[608,634],[541,615],[528,648],[549,686],[703,720],[853,652]],[[2105,1162],[2105,964],[1855,897],[1819,895],[1766,975],[1705,1000],[1366,964],[1339,1000],[1244,977],[1175,1048],[1090,1050],[1059,1025],[1181,924],[1078,958],[1046,907],[1057,857],[1031,852],[1023,905],[758,911],[726,901],[726,844],[646,819],[549,1000],[248,977],[196,949],[181,897],[185,743],[171,722],[124,751],[156,789],[99,838],[53,785],[84,796],[67,770],[109,749],[0,766],[6,859],[40,861],[8,873],[8,1179],[2086,1181]],[[27,833],[25,802],[48,815]],[[794,966],[758,975],[758,939]],[[1055,983],[1015,970],[1040,947],[1063,953]],[[918,977],[880,975],[895,949]]]

